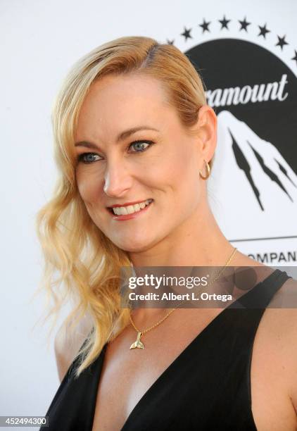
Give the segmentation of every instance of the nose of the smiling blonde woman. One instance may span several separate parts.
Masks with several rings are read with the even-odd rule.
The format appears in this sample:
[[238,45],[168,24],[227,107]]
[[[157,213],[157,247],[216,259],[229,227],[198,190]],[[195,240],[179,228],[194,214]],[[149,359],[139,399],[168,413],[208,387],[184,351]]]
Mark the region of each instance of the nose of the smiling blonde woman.
[[103,191],[110,197],[122,196],[132,185],[132,177],[127,168],[120,163],[108,163],[104,174]]

